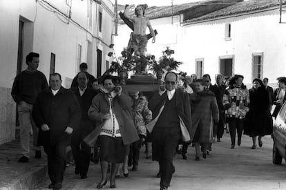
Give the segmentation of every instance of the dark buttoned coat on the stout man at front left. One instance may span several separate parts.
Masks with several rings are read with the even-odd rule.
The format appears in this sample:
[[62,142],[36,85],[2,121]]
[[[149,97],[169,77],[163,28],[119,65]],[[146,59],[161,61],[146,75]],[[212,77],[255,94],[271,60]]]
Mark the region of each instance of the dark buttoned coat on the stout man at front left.
[[[38,144],[56,144],[59,140],[70,143],[70,136],[65,130],[67,126],[76,129],[81,120],[81,108],[72,91],[61,86],[54,96],[50,88],[41,91],[32,109],[32,117],[39,127]],[[47,124],[50,131],[41,131]]]

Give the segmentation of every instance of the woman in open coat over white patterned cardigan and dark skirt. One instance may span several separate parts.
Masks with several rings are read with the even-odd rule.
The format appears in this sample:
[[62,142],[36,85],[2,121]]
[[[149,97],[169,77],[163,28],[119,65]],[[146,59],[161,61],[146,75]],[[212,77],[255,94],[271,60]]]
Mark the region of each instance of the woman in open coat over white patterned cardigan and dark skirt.
[[104,93],[95,96],[88,110],[90,120],[96,122],[100,130],[100,165],[102,180],[97,189],[106,184],[108,162],[111,163],[111,188],[115,188],[115,174],[119,163],[123,163],[126,146],[139,140],[131,116],[132,99],[122,93],[121,86],[115,86],[115,78],[104,76]]

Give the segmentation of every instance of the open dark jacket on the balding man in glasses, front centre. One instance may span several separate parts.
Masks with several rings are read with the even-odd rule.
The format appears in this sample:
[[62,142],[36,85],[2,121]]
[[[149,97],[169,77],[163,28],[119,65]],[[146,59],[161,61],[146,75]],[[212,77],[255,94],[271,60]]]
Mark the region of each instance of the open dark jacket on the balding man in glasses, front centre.
[[[176,89],[175,93],[175,109],[177,109],[178,117],[182,119],[184,126],[186,126],[187,131],[191,134],[191,104],[189,102],[189,94],[179,91],[178,89]],[[159,114],[160,108],[166,102],[166,98],[168,97],[165,92],[163,95],[155,93],[150,99],[148,106],[152,111],[153,119]],[[184,133],[182,133],[182,135],[184,135]]]

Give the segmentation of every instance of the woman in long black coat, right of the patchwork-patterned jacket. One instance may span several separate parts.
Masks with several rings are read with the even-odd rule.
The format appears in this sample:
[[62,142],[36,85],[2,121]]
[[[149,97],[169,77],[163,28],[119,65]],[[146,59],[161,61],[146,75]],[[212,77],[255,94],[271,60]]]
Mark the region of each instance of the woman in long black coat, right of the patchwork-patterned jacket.
[[272,133],[272,117],[269,111],[271,104],[269,94],[260,79],[254,79],[253,87],[249,89],[249,112],[245,117],[245,134],[252,137],[251,149],[256,149],[256,137],[258,145],[263,146],[261,138]]

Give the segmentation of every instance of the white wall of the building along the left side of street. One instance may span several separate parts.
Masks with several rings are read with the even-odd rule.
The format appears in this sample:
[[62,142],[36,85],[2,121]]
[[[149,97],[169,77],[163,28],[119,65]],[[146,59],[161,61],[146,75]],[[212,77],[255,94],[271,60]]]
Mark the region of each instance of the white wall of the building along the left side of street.
[[[68,14],[66,0],[46,0],[61,12]],[[71,1],[68,1],[71,2]],[[102,49],[102,73],[106,70],[106,57],[112,51],[108,46],[113,44],[113,5],[103,0],[99,5],[93,2],[93,26],[90,28],[88,18],[89,0],[72,1],[71,18],[55,13],[43,1],[35,0],[1,0],[0,1],[0,144],[15,138],[15,102],[10,91],[17,75],[17,56],[19,40],[19,21],[24,21],[23,61],[21,70],[26,69],[26,55],[30,51],[40,54],[38,70],[47,79],[50,74],[50,54],[55,54],[55,72],[60,73],[62,85],[70,88],[70,82],[79,70],[77,63],[77,46],[82,46],[80,62],[88,61],[88,72],[95,75],[97,71],[97,46]],[[44,4],[44,6],[43,6]],[[46,6],[45,6],[46,5]],[[98,37],[98,6],[102,6],[103,35]],[[108,12],[108,13],[107,13]],[[90,33],[91,34],[90,34]],[[91,49],[88,56],[88,41]]]

